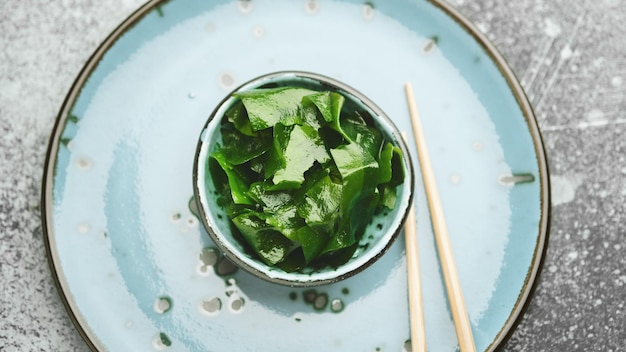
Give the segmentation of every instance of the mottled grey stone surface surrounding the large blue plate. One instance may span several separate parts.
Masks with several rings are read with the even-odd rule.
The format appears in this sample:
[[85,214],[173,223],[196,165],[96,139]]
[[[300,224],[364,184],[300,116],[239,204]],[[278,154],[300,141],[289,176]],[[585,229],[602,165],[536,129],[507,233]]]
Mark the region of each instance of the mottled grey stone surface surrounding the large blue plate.
[[[0,1],[0,351],[87,350],[46,261],[42,168],[74,78],[143,2]],[[551,167],[546,264],[503,349],[626,351],[626,1],[452,4],[518,75]]]

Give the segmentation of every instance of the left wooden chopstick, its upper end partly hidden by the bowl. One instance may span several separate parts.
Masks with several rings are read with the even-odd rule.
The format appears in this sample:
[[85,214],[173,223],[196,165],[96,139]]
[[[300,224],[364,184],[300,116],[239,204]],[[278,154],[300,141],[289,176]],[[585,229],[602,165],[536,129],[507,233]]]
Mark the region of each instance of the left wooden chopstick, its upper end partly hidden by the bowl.
[[[406,133],[402,137],[407,141]],[[426,328],[424,325],[424,303],[422,300],[422,283],[420,278],[419,254],[417,246],[417,221],[415,206],[411,205],[404,223],[404,240],[406,247],[406,269],[409,288],[409,321],[411,327],[411,350],[426,352]]]

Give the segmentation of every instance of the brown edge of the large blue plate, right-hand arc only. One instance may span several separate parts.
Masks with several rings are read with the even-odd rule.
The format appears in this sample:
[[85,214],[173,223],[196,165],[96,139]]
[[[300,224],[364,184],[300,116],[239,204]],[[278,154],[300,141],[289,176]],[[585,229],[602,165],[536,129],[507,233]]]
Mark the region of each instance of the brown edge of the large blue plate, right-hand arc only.
[[504,79],[511,89],[511,92],[515,96],[517,104],[524,115],[526,125],[533,140],[535,147],[535,154],[537,156],[537,166],[539,169],[539,182],[540,182],[540,199],[541,199],[541,219],[539,221],[538,238],[535,244],[535,251],[533,253],[533,259],[530,269],[526,274],[524,285],[520,294],[517,297],[513,310],[506,320],[502,329],[498,332],[495,339],[487,347],[486,351],[497,351],[504,347],[506,342],[511,338],[515,328],[521,322],[524,313],[528,309],[531,301],[531,297],[537,288],[539,283],[539,276],[541,274],[543,264],[545,261],[546,253],[548,250],[548,239],[550,237],[550,218],[551,218],[551,203],[550,203],[550,179],[549,179],[549,166],[546,155],[546,150],[543,142],[543,137],[539,131],[539,125],[537,118],[530,104],[526,92],[522,88],[517,76],[511,69],[510,65],[504,58],[504,55],[495,47],[493,43],[459,10],[448,4],[444,0],[427,0],[434,6],[443,11],[448,17],[453,19],[461,28],[471,35],[474,40],[480,45],[484,52],[496,65]]

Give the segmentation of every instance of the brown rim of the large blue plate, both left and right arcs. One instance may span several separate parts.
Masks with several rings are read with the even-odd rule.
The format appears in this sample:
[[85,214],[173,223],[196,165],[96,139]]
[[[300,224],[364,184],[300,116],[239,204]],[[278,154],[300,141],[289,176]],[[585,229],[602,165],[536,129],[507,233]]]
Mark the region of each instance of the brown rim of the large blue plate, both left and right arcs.
[[[494,340],[491,344],[489,344],[489,346],[487,346],[486,351],[491,352],[503,347],[504,344],[511,338],[516,330],[516,327],[523,319],[524,313],[528,309],[528,306],[532,301],[531,298],[540,281],[540,274],[547,255],[552,211],[548,158],[545,143],[539,130],[539,124],[532,105],[526,95],[526,92],[522,88],[519,79],[508,64],[504,55],[487,38],[487,36],[482,33],[471,20],[469,20],[469,18],[463,15],[460,10],[453,7],[446,0],[422,1],[432,4],[434,7],[444,12],[448,18],[456,22],[461,29],[473,37],[474,41],[481,47],[481,49],[483,49],[484,53],[494,63],[498,71],[502,74],[502,77],[505,79],[511,94],[515,97],[517,105],[522,112],[533,142],[535,156],[537,157],[541,211],[537,228],[537,242],[535,244],[529,270],[526,273],[524,284],[522,285],[522,289],[515,301],[515,304],[513,305],[513,309],[511,310],[511,313],[502,328],[496,334]],[[61,104],[61,108],[59,109],[59,113],[55,117],[55,122],[48,140],[48,147],[46,150],[42,173],[43,177],[40,196],[40,216],[46,257],[48,259],[48,266],[50,268],[54,284],[58,290],[59,297],[61,298],[69,318],[72,320],[74,327],[81,335],[83,341],[87,344],[89,349],[95,352],[104,351],[106,350],[106,347],[103,346],[95,332],[88,328],[85,318],[82,316],[75,301],[71,297],[69,284],[65,279],[58,252],[55,250],[56,240],[52,220],[52,210],[54,208],[52,204],[52,187],[54,184],[54,171],[59,151],[59,144],[61,142],[61,135],[68,120],[69,113],[78,99],[86,81],[98,67],[106,52],[121,38],[125,32],[131,30],[132,27],[134,27],[134,25],[137,24],[150,11],[158,8],[160,5],[166,4],[167,2],[169,2],[169,0],[149,0],[144,3],[127,16],[119,25],[117,25],[117,27],[115,27],[115,29],[113,29],[113,31],[111,31],[111,33],[107,35],[107,37],[98,45],[93,54],[89,56],[85,64],[82,66],[76,79],[73,81],[71,88],[66,94]]]

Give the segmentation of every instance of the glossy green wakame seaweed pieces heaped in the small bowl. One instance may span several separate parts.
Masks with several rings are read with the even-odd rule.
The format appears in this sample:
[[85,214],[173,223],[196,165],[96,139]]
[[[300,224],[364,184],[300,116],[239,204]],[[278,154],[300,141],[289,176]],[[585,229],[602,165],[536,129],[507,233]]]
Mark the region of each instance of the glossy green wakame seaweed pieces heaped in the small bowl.
[[373,214],[395,206],[400,149],[337,92],[234,96],[207,166],[237,237],[285,271],[349,260]]

